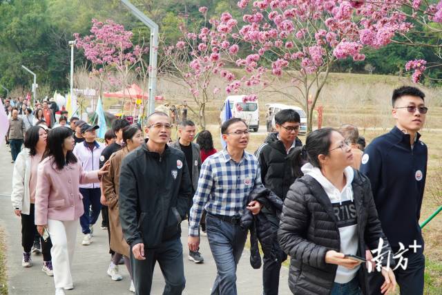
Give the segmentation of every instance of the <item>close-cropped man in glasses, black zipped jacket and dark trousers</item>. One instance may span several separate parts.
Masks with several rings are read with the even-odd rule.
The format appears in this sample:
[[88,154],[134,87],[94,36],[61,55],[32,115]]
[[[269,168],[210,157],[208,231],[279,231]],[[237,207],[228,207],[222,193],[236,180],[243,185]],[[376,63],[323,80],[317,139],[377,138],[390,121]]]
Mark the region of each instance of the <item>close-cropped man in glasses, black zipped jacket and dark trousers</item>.
[[150,115],[147,143],[124,158],[119,176],[119,218],[136,294],[151,294],[156,262],[166,280],[163,294],[182,294],[186,283],[180,223],[192,184],[184,153],[167,146],[171,127],[165,113]]

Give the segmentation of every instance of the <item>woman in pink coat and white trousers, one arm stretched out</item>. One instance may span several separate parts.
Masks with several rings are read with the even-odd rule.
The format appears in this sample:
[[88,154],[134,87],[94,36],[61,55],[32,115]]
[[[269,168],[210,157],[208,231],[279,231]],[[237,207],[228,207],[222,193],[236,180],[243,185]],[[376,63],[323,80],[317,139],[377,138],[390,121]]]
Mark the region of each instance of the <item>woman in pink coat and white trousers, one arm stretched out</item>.
[[38,167],[35,224],[41,236],[46,229],[52,240],[55,294],[61,295],[65,289],[73,289],[70,267],[78,220],[84,212],[79,184],[98,182],[108,164],[99,171],[83,171],[73,154],[74,139],[67,127],[52,129],[47,143]]

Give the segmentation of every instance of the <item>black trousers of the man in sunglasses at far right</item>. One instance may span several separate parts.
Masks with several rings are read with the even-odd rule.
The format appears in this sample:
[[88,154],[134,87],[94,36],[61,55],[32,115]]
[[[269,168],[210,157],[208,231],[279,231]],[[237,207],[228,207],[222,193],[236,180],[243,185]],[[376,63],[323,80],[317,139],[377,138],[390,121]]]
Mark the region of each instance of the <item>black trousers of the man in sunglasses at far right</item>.
[[[393,249],[396,253],[398,249]],[[408,259],[407,268],[404,270],[398,267],[394,271],[396,281],[401,289],[401,295],[422,295],[423,294],[423,273],[425,270],[425,256],[423,249],[417,249],[414,253],[413,249],[409,249],[403,258]],[[395,259],[396,265],[398,259]],[[381,295],[381,285],[385,282],[385,278],[380,272],[371,272],[368,274],[369,279],[369,295]]]

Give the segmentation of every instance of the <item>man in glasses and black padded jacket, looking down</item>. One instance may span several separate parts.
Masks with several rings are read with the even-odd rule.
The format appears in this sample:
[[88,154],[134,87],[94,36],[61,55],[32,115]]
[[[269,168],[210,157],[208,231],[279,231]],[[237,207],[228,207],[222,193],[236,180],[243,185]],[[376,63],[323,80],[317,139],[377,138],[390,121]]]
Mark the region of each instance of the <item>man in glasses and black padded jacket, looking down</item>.
[[[292,109],[282,110],[276,113],[275,123],[278,132],[271,133],[267,137],[265,143],[256,151],[256,157],[260,162],[262,184],[284,201],[290,185],[296,178],[291,171],[291,154],[296,146],[302,146],[302,142],[298,139],[300,116]],[[278,244],[276,240],[279,227],[278,216],[265,207],[262,213],[265,213],[267,220],[271,223],[275,232],[275,243]],[[278,295],[281,263],[287,259],[287,255],[282,252],[280,257],[282,259],[278,260],[264,254],[262,258],[264,261],[263,295]]]

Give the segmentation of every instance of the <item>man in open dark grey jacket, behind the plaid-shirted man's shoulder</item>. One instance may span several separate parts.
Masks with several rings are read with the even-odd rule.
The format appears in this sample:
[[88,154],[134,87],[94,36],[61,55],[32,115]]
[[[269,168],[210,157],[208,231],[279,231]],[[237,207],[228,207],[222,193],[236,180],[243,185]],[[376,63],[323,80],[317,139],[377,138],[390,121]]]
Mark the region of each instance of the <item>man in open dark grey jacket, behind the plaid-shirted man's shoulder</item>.
[[[198,178],[200,178],[201,170],[200,146],[193,142],[195,134],[195,123],[193,123],[191,120],[182,121],[178,127],[178,135],[180,135],[180,138],[176,142],[170,144],[171,147],[179,149],[186,156],[187,167],[189,168],[189,175],[191,176],[192,182],[192,197],[195,194],[196,188],[198,187]],[[187,211],[188,219],[192,204],[193,201],[191,199]],[[200,251],[191,251],[190,249],[188,258],[194,263],[202,263],[204,261]]]

